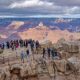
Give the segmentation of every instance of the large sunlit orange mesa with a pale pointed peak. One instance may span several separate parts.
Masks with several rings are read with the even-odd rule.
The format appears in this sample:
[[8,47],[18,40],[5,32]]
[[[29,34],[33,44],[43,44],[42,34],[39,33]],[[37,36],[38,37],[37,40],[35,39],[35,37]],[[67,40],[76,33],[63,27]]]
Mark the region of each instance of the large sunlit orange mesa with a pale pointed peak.
[[71,35],[73,35],[75,39],[78,39],[80,34],[71,33],[68,30],[52,30],[49,27],[45,26],[42,22],[40,22],[37,27],[19,32],[19,36],[22,39],[32,38],[34,40],[42,41],[46,38],[47,40],[52,41],[52,43],[56,43],[61,38],[64,38],[65,40],[70,40]]

